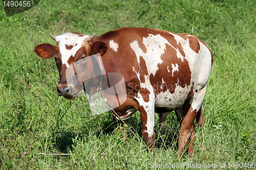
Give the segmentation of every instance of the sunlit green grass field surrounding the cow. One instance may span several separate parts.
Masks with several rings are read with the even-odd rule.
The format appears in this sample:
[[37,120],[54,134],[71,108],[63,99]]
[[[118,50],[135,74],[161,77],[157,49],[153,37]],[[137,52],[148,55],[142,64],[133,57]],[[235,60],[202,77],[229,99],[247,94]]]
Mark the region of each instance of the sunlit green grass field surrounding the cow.
[[[1,169],[176,169],[167,165],[188,161],[190,166],[177,169],[195,169],[196,163],[206,164],[205,169],[252,169],[256,164],[255,1],[41,0],[34,9],[10,17],[0,8]],[[205,41],[214,64],[204,100],[205,126],[196,127],[194,158],[184,154],[175,159],[180,128],[175,113],[167,117],[166,132],[159,130],[155,117],[153,158],[140,138],[139,113],[128,125],[139,138],[131,134],[125,140],[125,132],[113,128],[110,113],[92,116],[86,98],[56,100],[54,59],[42,60],[33,52],[39,43],[54,44],[40,13],[55,35],[150,27]]]

